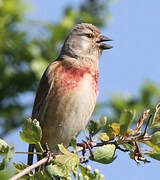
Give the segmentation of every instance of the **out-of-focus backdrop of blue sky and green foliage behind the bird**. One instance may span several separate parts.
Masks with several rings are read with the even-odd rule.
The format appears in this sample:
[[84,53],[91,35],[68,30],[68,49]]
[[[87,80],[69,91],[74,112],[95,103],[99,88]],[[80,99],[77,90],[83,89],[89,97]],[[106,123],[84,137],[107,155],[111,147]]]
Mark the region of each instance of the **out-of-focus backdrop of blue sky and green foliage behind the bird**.
[[[159,19],[159,0],[0,0],[0,137],[16,151],[27,151],[19,131],[31,115],[41,75],[80,22],[96,25],[114,40],[100,59],[93,119],[106,115],[118,121],[126,108],[136,109],[137,117],[153,108],[160,102]],[[158,179],[158,161],[148,158],[151,163],[137,166],[127,153],[116,154],[109,165],[91,163],[93,169],[110,180]],[[26,157],[16,155],[13,161],[26,163]],[[0,177],[8,179],[8,172]]]

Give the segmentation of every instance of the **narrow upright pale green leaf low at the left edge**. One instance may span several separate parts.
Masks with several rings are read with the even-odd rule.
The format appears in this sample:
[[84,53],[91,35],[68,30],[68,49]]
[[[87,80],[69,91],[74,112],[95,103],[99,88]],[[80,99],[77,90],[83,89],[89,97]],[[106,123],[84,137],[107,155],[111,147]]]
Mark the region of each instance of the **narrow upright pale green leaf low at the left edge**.
[[6,156],[3,158],[2,162],[0,162],[0,170],[3,170],[8,166],[14,154],[15,154],[14,147],[9,147]]

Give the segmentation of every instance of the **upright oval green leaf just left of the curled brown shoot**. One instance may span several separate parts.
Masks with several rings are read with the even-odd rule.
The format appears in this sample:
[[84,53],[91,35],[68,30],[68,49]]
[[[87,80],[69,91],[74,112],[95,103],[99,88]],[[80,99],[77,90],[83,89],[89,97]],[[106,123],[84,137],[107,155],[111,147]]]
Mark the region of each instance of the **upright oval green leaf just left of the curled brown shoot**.
[[133,120],[133,113],[131,111],[124,111],[120,117],[120,134],[125,134]]

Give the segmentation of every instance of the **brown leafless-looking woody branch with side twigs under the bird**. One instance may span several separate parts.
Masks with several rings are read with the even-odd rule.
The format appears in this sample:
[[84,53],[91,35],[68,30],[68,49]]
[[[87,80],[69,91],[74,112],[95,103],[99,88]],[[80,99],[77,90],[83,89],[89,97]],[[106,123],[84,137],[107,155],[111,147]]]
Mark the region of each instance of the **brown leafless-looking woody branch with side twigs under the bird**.
[[[142,129],[143,122],[147,117],[148,117],[148,121],[147,121],[145,130],[143,133],[139,133]],[[101,147],[101,146],[107,145],[107,144],[114,144],[116,146],[116,149],[118,149],[120,151],[123,151],[123,152],[130,151],[134,155],[134,160],[137,163],[139,163],[138,162],[139,160],[143,161],[143,162],[149,162],[143,157],[143,153],[141,152],[141,149],[139,148],[138,142],[146,141],[151,137],[151,136],[146,134],[151,117],[152,117],[152,115],[149,115],[149,110],[144,111],[142,116],[140,117],[140,119],[138,121],[136,129],[133,131],[133,133],[124,134],[124,136],[122,136],[118,140],[120,143],[118,143],[117,141],[113,141],[113,140],[96,143],[93,141],[92,137],[90,137],[90,140],[88,140],[87,142],[83,141],[82,143],[77,143],[77,146],[80,146],[80,148],[76,149],[74,151],[74,153],[78,153],[78,152],[82,151],[83,157],[84,157],[86,149],[89,149],[90,155],[94,158],[92,148]],[[132,149],[124,149],[121,147],[122,144],[131,143],[131,142],[134,142],[132,145],[133,146]],[[24,175],[29,174],[29,172],[32,171],[33,169],[36,169],[37,167],[39,167],[39,166],[41,166],[47,162],[50,162],[52,159],[54,159],[56,156],[49,151],[48,146],[46,146],[46,148],[47,149],[46,149],[45,154],[43,153],[43,155],[45,155],[45,157],[43,159],[41,159],[40,161],[36,162],[35,164],[27,167],[26,169],[22,170],[21,172],[19,172],[18,174],[16,174],[12,178],[10,178],[9,180],[17,180],[17,179],[23,177]],[[17,152],[17,153],[25,154],[25,152]],[[32,154],[33,154],[33,152],[32,152]],[[35,154],[38,154],[38,153],[36,152]]]

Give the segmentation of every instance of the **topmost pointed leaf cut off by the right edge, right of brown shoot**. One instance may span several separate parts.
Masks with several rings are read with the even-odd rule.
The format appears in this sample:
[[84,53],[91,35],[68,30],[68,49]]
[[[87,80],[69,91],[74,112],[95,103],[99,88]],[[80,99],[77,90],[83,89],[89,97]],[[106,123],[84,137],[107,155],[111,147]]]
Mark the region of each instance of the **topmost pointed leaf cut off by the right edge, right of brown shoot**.
[[156,106],[156,112],[152,120],[151,128],[160,128],[160,103]]

